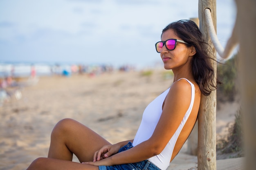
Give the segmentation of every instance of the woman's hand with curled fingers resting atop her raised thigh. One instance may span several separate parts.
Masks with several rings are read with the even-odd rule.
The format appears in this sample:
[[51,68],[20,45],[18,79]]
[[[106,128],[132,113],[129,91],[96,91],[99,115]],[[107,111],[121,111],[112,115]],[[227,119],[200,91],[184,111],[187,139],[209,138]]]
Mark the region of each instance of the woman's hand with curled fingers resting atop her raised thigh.
[[105,159],[118,152],[120,146],[118,144],[103,146],[100,150],[97,150],[93,156],[93,162]]

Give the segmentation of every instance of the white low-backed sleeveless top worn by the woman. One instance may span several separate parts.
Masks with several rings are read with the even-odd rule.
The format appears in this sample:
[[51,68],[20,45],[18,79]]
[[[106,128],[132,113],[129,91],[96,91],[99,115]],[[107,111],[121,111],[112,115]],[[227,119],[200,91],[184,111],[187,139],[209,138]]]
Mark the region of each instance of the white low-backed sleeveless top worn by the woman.
[[[185,78],[182,78],[185,79]],[[180,80],[180,79],[179,79]],[[178,80],[178,81],[179,81]],[[182,122],[180,122],[180,126],[177,128],[174,135],[171,137],[170,141],[164,148],[164,150],[154,157],[149,158],[148,160],[152,162],[155,166],[160,168],[161,170],[166,170],[170,164],[171,157],[173,154],[173,149],[176,144],[176,141],[180,135],[180,132],[186,123],[187,119],[189,118],[189,115],[191,113],[191,110],[193,108],[194,99],[195,99],[195,87],[194,84],[191,83],[188,79],[186,79],[191,84],[191,102],[188,110],[186,111],[186,114],[184,115],[184,118],[182,119]],[[159,95],[157,98],[155,98],[144,110],[141,124],[139,126],[139,129],[135,135],[135,138],[133,140],[132,145],[136,146],[140,144],[143,141],[148,140],[155,130],[155,127],[157,126],[157,123],[162,115],[162,106],[164,99],[166,98],[166,95],[168,94],[170,88],[168,88],[166,91],[164,91],[161,95]]]

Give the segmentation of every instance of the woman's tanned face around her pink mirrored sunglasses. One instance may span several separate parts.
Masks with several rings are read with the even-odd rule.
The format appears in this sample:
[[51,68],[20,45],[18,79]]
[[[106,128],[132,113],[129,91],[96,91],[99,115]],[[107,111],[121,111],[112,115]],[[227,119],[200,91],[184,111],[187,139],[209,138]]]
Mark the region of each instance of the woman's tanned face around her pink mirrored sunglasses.
[[[166,41],[168,39],[181,40],[175,35],[175,32],[172,29],[168,29],[162,34],[161,41]],[[182,42],[177,42],[176,48],[172,51],[166,49],[166,46],[164,45],[160,52],[160,56],[164,62],[164,68],[175,71],[175,69],[185,68],[184,66],[188,64],[191,65],[191,58],[195,54],[192,53],[192,51],[195,51],[194,49],[195,48],[193,47],[187,47],[186,44]]]

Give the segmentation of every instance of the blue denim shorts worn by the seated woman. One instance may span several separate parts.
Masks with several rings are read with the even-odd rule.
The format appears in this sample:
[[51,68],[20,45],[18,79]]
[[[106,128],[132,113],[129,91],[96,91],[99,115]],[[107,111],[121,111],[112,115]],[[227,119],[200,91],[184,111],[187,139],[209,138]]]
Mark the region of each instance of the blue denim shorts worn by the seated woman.
[[[126,146],[119,149],[118,152],[123,152],[132,148],[132,143],[129,142]],[[99,170],[160,170],[157,166],[148,160],[140,161],[137,163],[127,163],[114,166],[99,166]]]

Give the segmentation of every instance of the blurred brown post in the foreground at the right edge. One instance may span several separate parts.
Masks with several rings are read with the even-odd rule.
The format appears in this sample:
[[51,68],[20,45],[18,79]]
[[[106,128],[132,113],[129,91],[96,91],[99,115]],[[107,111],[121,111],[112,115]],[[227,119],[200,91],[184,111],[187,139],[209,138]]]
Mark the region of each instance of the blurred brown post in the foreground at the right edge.
[[236,0],[245,170],[256,170],[256,1]]

